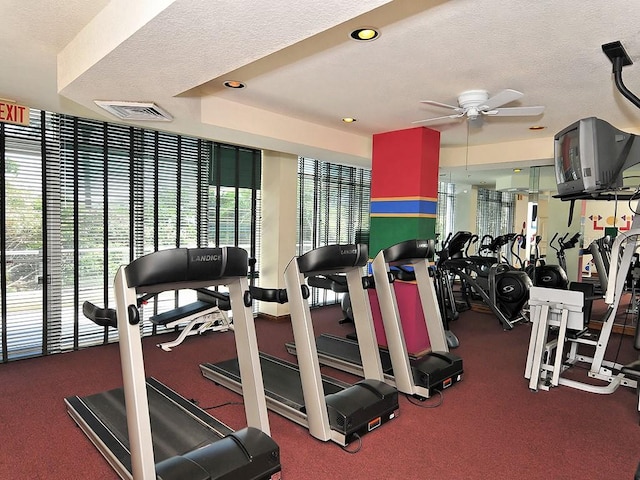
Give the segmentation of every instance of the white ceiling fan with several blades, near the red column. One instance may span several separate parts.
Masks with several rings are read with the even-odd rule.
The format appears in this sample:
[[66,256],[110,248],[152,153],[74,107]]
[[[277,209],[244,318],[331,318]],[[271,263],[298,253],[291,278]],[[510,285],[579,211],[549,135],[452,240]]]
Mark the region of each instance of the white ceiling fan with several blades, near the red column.
[[[502,107],[507,103],[522,98],[524,94],[517,90],[506,89],[489,97],[486,90],[468,90],[458,95],[458,106],[448,105],[446,103],[435,102],[433,100],[423,100],[420,103],[434,105],[436,107],[448,108],[455,110],[456,113],[445,115],[443,117],[427,118],[425,120],[416,120],[411,123],[445,123],[454,119],[466,117],[470,123],[477,124],[484,116],[489,117],[520,117],[540,115],[544,111],[544,107]],[[502,108],[501,108],[502,107]]]

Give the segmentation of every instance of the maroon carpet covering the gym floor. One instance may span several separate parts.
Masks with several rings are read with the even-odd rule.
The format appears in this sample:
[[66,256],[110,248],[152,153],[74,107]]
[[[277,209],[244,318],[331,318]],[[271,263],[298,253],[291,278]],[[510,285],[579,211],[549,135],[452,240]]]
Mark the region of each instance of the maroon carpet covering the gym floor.
[[[313,311],[316,333],[347,334],[339,309]],[[257,320],[264,351],[287,358],[290,325]],[[640,460],[636,393],[597,395],[558,387],[531,392],[523,376],[530,326],[503,331],[490,314],[464,312],[452,323],[464,360],[462,382],[437,408],[400,399],[400,415],[362,438],[350,454],[270,413],[283,478],[632,479]],[[200,375],[198,365],[235,356],[233,333],[189,338],[172,352],[144,340],[146,374],[194,399],[232,428],[244,426],[242,399]],[[173,334],[171,335],[173,336]],[[163,340],[167,338],[163,335]],[[632,338],[613,335],[611,355],[637,358]],[[607,358],[611,359],[610,356]],[[324,373],[355,380],[323,368]],[[585,375],[586,376],[586,375]],[[118,345],[0,365],[0,478],[116,478],[67,415],[63,398],[121,384]],[[433,404],[434,399],[422,404]]]

